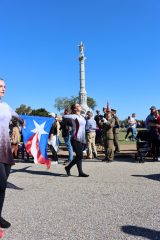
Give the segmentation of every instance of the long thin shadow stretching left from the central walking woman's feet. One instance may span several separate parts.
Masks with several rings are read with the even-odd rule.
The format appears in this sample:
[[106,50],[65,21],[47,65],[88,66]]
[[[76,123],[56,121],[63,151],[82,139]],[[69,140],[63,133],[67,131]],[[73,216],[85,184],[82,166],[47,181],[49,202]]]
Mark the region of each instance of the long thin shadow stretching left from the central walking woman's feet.
[[30,168],[31,166],[28,167],[24,167],[21,169],[12,169],[11,170],[11,174],[12,173],[29,173],[29,174],[34,174],[34,175],[43,175],[43,176],[54,176],[54,177],[66,177],[66,174],[59,174],[59,173],[52,173],[52,172],[45,172],[45,171],[33,171],[33,170],[28,170],[28,168]]

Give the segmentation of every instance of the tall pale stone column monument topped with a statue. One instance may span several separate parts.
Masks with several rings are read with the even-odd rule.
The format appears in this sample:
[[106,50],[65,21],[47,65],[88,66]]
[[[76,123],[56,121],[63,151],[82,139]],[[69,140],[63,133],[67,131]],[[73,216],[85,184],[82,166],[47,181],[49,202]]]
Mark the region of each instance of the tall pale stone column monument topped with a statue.
[[79,45],[79,64],[80,64],[80,92],[79,92],[79,104],[82,107],[82,111],[86,113],[89,109],[87,105],[87,92],[85,89],[85,61],[84,45],[81,42]]

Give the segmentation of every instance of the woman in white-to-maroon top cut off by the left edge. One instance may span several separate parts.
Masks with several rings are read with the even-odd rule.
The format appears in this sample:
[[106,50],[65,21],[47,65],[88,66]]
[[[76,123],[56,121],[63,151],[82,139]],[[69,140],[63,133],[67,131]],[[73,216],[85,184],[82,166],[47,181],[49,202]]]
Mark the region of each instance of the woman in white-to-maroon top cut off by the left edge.
[[9,136],[9,123],[12,118],[15,118],[20,124],[23,124],[23,120],[6,102],[2,101],[5,91],[5,81],[0,79],[0,227],[9,228],[11,224],[2,218],[7,179],[11,166],[14,164]]

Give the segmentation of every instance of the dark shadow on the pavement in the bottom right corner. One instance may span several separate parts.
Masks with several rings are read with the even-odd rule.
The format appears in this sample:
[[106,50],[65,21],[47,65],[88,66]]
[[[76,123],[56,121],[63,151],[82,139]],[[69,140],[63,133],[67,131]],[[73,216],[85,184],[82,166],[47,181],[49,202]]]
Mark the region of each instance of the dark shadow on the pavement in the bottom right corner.
[[137,236],[137,237],[141,236],[144,239],[150,239],[150,240],[160,239],[160,231],[152,230],[149,228],[126,225],[126,226],[122,226],[121,230],[124,233],[130,234],[133,236]]

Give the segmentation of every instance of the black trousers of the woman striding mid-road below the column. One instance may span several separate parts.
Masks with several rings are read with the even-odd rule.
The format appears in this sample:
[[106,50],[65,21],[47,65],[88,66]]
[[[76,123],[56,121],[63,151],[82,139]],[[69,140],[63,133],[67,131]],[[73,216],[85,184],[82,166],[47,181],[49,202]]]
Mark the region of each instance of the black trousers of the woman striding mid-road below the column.
[[83,159],[83,150],[84,144],[81,142],[77,142],[75,140],[71,140],[71,144],[73,147],[73,151],[75,152],[75,158],[69,163],[67,166],[68,169],[71,169],[75,164],[77,164],[79,174],[82,174],[82,159]]

